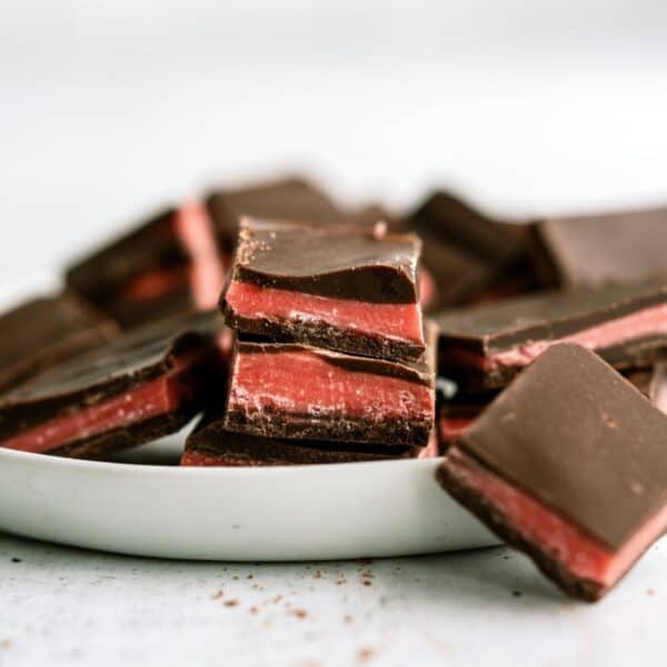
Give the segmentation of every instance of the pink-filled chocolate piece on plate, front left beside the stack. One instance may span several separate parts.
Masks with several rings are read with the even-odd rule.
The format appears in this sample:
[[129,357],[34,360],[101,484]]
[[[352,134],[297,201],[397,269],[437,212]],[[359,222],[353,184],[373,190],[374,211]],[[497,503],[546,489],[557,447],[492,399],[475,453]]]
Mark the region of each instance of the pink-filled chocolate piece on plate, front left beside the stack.
[[223,391],[222,318],[146,327],[0,396],[0,447],[81,458],[177,431]]

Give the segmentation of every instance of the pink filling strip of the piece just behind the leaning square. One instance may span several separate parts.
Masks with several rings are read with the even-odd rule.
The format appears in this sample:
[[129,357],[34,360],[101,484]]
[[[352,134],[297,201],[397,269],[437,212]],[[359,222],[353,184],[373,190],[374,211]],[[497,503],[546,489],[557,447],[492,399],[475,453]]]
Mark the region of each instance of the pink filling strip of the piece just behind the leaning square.
[[459,364],[492,370],[494,368],[508,366],[527,366],[557,342],[576,342],[590,350],[598,350],[620,345],[628,340],[661,335],[667,335],[667,303],[646,308],[645,310],[590,327],[570,336],[564,336],[555,340],[538,340],[520,345],[508,350],[495,352],[488,357],[482,357],[481,355],[464,349],[450,349],[446,352],[446,357]]

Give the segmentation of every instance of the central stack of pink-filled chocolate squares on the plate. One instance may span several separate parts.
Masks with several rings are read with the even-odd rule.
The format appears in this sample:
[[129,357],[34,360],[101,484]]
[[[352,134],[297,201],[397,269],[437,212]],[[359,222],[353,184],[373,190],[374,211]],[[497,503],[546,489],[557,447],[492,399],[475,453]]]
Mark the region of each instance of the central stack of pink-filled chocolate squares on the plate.
[[245,219],[222,299],[236,330],[227,402],[210,407],[181,462],[435,454],[436,332],[421,316],[419,252],[417,237],[381,225]]

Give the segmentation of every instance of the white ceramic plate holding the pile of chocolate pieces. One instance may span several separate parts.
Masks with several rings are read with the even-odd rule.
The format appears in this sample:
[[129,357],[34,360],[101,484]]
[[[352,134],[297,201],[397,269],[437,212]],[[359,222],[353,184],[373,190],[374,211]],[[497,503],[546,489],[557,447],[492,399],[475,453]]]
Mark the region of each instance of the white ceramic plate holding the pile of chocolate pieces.
[[[182,435],[125,457],[161,461],[181,446]],[[0,529],[216,560],[404,556],[497,544],[439,488],[436,466],[431,459],[201,469],[0,449]]]

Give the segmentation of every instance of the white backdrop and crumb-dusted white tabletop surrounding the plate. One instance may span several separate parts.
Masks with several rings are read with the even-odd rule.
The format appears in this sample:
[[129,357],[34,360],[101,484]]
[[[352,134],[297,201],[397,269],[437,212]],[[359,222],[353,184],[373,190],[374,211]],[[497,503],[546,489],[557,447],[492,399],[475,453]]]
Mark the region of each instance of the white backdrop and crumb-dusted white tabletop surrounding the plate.
[[[398,207],[437,185],[501,212],[667,201],[666,38],[660,0],[0,0],[0,283],[283,168]],[[663,661],[659,547],[595,608],[504,555],[376,564],[368,587],[355,564],[225,573],[2,537],[0,665]],[[277,595],[307,617],[250,613]]]

